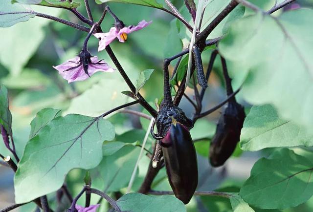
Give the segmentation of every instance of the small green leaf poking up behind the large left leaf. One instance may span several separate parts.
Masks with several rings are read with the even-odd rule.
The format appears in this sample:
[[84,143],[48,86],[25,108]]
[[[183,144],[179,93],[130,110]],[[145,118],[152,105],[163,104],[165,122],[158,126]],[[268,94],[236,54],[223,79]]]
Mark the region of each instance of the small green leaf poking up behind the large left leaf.
[[61,110],[59,109],[45,108],[40,110],[30,123],[29,139],[35,137],[42,128],[58,116],[61,116]]

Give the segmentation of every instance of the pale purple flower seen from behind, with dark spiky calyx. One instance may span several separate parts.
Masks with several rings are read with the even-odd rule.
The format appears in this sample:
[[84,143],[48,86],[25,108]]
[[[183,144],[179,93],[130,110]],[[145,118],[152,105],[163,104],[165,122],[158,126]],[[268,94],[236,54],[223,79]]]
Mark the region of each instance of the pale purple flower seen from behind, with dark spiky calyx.
[[91,56],[87,50],[82,50],[80,54],[63,64],[53,66],[68,83],[74,81],[84,81],[98,71],[113,72],[103,60],[98,60],[97,56]]

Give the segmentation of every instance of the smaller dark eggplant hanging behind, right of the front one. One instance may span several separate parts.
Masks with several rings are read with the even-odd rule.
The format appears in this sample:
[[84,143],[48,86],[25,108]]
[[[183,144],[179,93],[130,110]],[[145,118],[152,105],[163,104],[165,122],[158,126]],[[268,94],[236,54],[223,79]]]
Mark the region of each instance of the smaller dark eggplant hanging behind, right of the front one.
[[222,166],[234,152],[245,118],[243,106],[236,101],[228,103],[218,122],[209,150],[209,161],[213,167]]

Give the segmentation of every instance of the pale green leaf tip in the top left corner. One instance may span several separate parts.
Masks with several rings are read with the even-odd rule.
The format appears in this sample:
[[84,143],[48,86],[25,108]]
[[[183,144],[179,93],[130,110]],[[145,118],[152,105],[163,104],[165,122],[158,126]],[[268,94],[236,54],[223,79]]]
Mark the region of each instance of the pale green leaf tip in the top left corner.
[[0,2],[0,27],[10,27],[18,22],[28,21],[35,17],[30,7],[19,3],[12,4],[11,0]]

